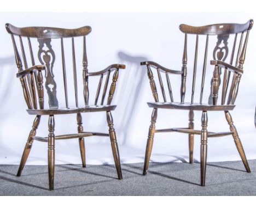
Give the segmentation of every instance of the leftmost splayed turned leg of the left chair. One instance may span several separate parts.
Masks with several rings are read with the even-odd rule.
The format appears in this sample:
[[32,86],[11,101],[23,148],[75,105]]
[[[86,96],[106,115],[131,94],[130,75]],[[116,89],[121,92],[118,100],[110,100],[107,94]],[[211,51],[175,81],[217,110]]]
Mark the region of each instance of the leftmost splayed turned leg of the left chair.
[[28,135],[27,143],[25,145],[25,149],[24,149],[22,157],[21,157],[20,167],[19,167],[17,176],[21,175],[21,172],[22,172],[22,170],[23,170],[23,168],[25,166],[25,163],[27,161],[27,157],[30,154],[30,150],[31,150],[32,144],[33,144],[32,137],[36,136],[36,130],[37,130],[38,125],[40,123],[40,118],[41,118],[41,116],[37,115],[36,118],[34,119],[32,130],[30,131],[30,134]]

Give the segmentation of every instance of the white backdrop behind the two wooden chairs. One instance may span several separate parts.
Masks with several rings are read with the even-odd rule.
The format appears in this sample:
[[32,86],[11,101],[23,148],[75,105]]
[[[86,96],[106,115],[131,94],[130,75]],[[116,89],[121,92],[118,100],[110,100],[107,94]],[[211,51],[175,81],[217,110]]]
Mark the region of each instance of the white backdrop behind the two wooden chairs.
[[[0,17],[2,28],[0,33],[1,164],[19,163],[34,119],[25,111],[26,105],[20,82],[15,78],[17,70],[13,46],[10,35],[5,31],[5,23],[9,22],[18,27],[78,28],[89,25],[92,27],[92,32],[87,38],[89,70],[98,71],[113,63],[126,64],[126,69],[120,71],[118,88],[113,100],[118,107],[113,112],[113,117],[121,163],[132,163],[144,162],[152,113],[152,109],[147,106],[147,101],[153,101],[146,69],[139,66],[139,62],[153,60],[167,68],[180,70],[184,41],[184,36],[178,29],[180,23],[200,26],[222,22],[245,23],[249,19],[256,19],[255,13],[1,13]],[[256,54],[255,34],[255,28],[253,28],[244,65],[245,74],[242,76],[240,92],[236,100],[237,107],[234,112],[231,112],[248,159],[256,158],[254,126],[256,71],[253,65]],[[190,47],[190,50],[188,53],[193,57],[191,54],[194,53],[194,46]],[[201,65],[198,69],[200,67]],[[82,63],[77,62],[78,76],[82,75],[82,71],[79,74],[79,69],[82,70]],[[210,68],[207,74],[212,75]],[[205,88],[209,88],[208,83],[206,82]],[[90,84],[96,83],[90,82]],[[200,85],[200,82],[198,84]],[[172,85],[176,89],[174,99],[179,101],[180,78],[172,79]],[[80,99],[80,105],[82,101]],[[209,131],[229,131],[223,112],[209,112],[208,119]],[[41,120],[37,135],[48,134],[47,121],[46,117]],[[75,115],[57,116],[55,121],[55,134],[77,131]],[[108,131],[104,113],[84,114],[83,121],[85,131]],[[187,125],[187,111],[159,111],[156,128],[186,127]],[[195,112],[195,129],[201,129],[200,112]],[[113,163],[107,137],[89,137],[85,139],[85,144],[87,164]],[[46,164],[46,157],[47,144],[34,142],[27,164]],[[199,136],[195,136],[194,158],[197,161],[200,160]],[[231,136],[208,139],[208,161],[232,160],[240,160],[240,156]],[[178,133],[155,134],[151,161],[188,161],[188,136]],[[56,142],[56,164],[62,163],[81,163],[77,139]]]

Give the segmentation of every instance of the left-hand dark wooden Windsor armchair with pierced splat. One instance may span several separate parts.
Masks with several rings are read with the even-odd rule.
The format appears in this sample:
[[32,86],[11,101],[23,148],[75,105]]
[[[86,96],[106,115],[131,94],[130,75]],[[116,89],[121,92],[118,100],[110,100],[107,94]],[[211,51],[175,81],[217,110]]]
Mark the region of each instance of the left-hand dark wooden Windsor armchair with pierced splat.
[[[121,166],[120,166],[120,159],[119,159],[119,151],[118,151],[118,144],[117,144],[117,138],[115,135],[115,130],[113,127],[113,118],[111,111],[113,111],[116,106],[111,105],[118,75],[119,75],[119,69],[125,69],[125,65],[120,64],[113,64],[108,66],[106,69],[102,71],[97,72],[89,72],[88,71],[88,60],[86,55],[86,35],[88,35],[91,32],[91,27],[85,26],[78,29],[63,29],[63,28],[50,28],[50,27],[25,27],[25,28],[18,28],[14,27],[13,25],[10,25],[7,23],[5,25],[7,32],[11,34],[11,39],[13,41],[14,46],[14,53],[15,53],[15,59],[16,59],[16,65],[18,67],[18,74],[17,77],[20,79],[22,90],[24,94],[24,98],[27,104],[27,112],[31,115],[36,115],[36,118],[34,119],[32,130],[28,136],[27,143],[25,145],[25,149],[21,158],[20,167],[18,170],[17,176],[21,175],[22,169],[25,166],[26,160],[28,155],[30,154],[30,150],[32,148],[33,140],[38,140],[40,142],[48,142],[48,172],[49,172],[49,190],[54,189],[54,164],[55,164],[55,140],[59,139],[73,139],[78,138],[79,139],[79,147],[80,147],[80,155],[82,157],[82,164],[83,167],[85,167],[85,146],[84,146],[84,137],[90,137],[90,136],[103,136],[103,137],[110,137],[110,142],[112,146],[112,152],[114,156],[114,162],[115,167],[117,169],[118,173],[118,179],[122,179],[122,173],[121,173]],[[15,38],[16,37],[16,38]],[[83,79],[83,99],[84,99],[84,107],[79,106],[78,102],[78,79],[77,79],[77,66],[76,66],[76,56],[75,56],[75,45],[74,45],[74,39],[82,39],[82,51],[83,52],[83,62],[81,63],[81,74],[78,76]],[[18,47],[16,45],[15,39],[18,39],[20,42],[20,51],[18,50]],[[26,58],[25,53],[25,47],[23,39],[26,39],[27,41],[27,51],[28,56],[31,58],[31,64],[32,66],[28,67],[28,62]],[[32,39],[34,40],[35,45],[37,46],[37,58],[40,63],[40,65],[36,64],[37,59],[33,56],[33,44]],[[53,39],[57,40],[57,45],[59,46],[59,51],[61,54],[61,58],[59,58],[59,61],[62,65],[62,73],[56,73],[54,75],[54,64],[56,64],[55,60],[57,60],[57,57],[55,54],[55,51],[58,48],[55,48],[52,46],[51,42],[53,42]],[[66,74],[68,71],[66,71],[66,59],[65,57],[65,51],[63,44],[64,39],[71,40],[71,50],[72,50],[72,65],[73,65],[73,87],[74,88],[74,100],[75,100],[75,107],[69,106],[69,100],[68,100],[68,84],[70,82],[67,82],[68,78],[70,76],[67,76]],[[38,48],[39,47],[39,48]],[[29,50],[28,50],[29,48]],[[66,58],[66,59],[65,59]],[[24,66],[24,68],[23,68]],[[55,69],[57,70],[57,69]],[[61,69],[60,69],[61,70]],[[44,101],[47,100],[47,97],[44,95],[44,77],[43,77],[43,71],[45,72],[45,89],[48,94],[48,103],[49,107],[45,107]],[[110,73],[113,72],[113,81],[110,86],[108,86]],[[71,72],[72,73],[72,72]],[[61,75],[62,74],[62,75]],[[61,76],[63,76],[63,94],[57,93],[57,84],[56,84],[56,78],[60,77],[60,80],[62,80]],[[72,75],[71,75],[72,76]],[[98,83],[98,88],[96,91],[96,98],[93,105],[89,105],[89,77],[93,76],[100,76],[100,81]],[[101,90],[103,77],[106,77],[103,91]],[[107,90],[109,89],[109,94],[107,97],[107,102],[105,101],[105,97],[107,94]],[[101,102],[98,104],[98,99],[101,93]],[[69,93],[69,95],[71,95]],[[59,101],[57,97],[65,97],[65,107],[59,107]],[[104,104],[105,103],[105,104]],[[38,108],[39,107],[39,108]],[[83,123],[82,123],[82,115],[81,113],[87,113],[87,112],[106,112],[107,113],[107,124],[109,127],[109,133],[98,133],[98,132],[85,132],[83,131]],[[54,134],[54,128],[55,128],[55,115],[59,114],[77,114],[77,125],[78,125],[78,133],[73,134],[64,134],[55,136]],[[49,134],[48,137],[38,137],[36,136],[36,130],[38,128],[38,125],[40,123],[40,118],[42,115],[49,115]]]

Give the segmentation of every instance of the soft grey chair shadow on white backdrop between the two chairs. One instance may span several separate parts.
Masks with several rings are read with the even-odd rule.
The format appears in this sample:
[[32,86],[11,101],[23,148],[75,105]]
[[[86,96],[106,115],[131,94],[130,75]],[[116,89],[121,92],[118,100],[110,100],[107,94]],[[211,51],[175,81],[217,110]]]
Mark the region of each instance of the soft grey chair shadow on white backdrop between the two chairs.
[[[119,131],[118,141],[122,144],[129,139],[133,120],[139,107],[139,97],[142,96],[143,85],[147,81],[147,71],[141,68],[140,63],[147,60],[147,57],[132,56],[119,51],[118,58],[120,63],[126,65],[124,74],[120,76],[118,95],[119,108],[117,108],[118,117],[115,124]],[[132,83],[132,84],[131,84]]]

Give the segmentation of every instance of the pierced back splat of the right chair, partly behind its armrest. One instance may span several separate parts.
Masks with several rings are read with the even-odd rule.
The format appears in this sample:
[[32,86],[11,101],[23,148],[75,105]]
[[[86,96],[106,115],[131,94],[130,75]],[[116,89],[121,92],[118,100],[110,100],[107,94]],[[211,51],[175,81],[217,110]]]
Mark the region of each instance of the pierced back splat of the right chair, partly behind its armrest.
[[[228,48],[228,39],[229,39],[229,34],[226,35],[218,35],[217,36],[218,41],[216,42],[216,46],[214,47],[213,50],[213,59],[214,60],[223,60],[223,62],[226,60],[226,57],[228,57],[229,54],[229,48]],[[220,75],[222,74],[222,71],[219,69],[218,71],[219,77],[218,77],[218,85],[220,85]],[[211,94],[208,99],[208,103],[210,105],[213,104],[213,99],[212,99],[212,91],[213,91],[213,78],[211,80]]]

